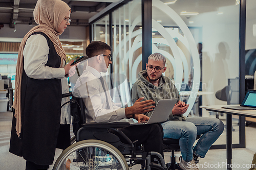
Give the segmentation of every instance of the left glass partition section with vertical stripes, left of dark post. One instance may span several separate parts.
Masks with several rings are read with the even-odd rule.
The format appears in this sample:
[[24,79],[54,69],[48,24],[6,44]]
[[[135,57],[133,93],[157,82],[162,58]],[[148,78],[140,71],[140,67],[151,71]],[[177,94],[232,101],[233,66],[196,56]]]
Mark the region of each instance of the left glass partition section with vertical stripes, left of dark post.
[[[141,1],[131,1],[112,12],[112,36],[109,37],[109,15],[92,24],[92,40],[100,40],[112,47],[111,88],[117,87],[123,76],[125,83],[113,90],[113,101],[119,106],[131,106],[130,89],[141,70]],[[105,25],[102,23],[105,22]],[[103,31],[105,30],[105,31]],[[104,38],[105,39],[104,39]],[[110,44],[110,38],[111,44]],[[112,70],[110,71],[110,68]],[[108,73],[107,73],[108,74]]]

